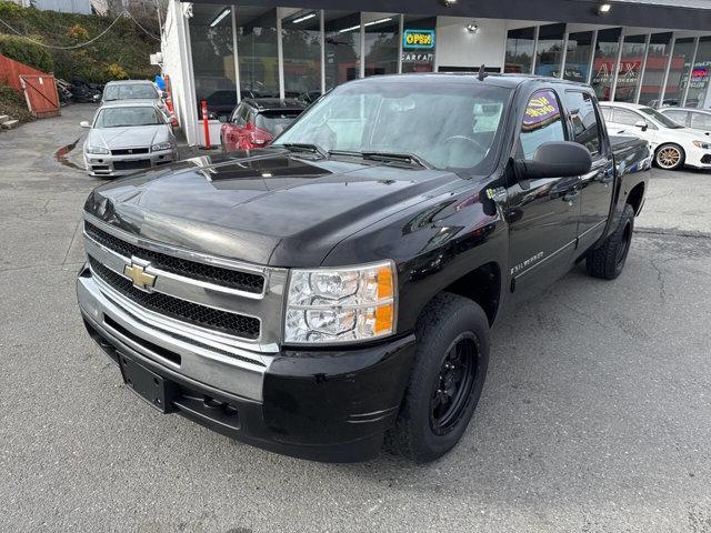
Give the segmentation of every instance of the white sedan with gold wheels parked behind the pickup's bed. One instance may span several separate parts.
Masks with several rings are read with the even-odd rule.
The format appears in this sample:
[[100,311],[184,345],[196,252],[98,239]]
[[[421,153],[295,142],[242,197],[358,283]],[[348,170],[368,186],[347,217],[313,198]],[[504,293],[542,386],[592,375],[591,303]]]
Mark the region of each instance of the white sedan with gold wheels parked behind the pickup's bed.
[[711,142],[697,130],[685,128],[667,114],[645,105],[600,102],[600,107],[609,133],[631,134],[648,141],[659,168],[711,168]]

